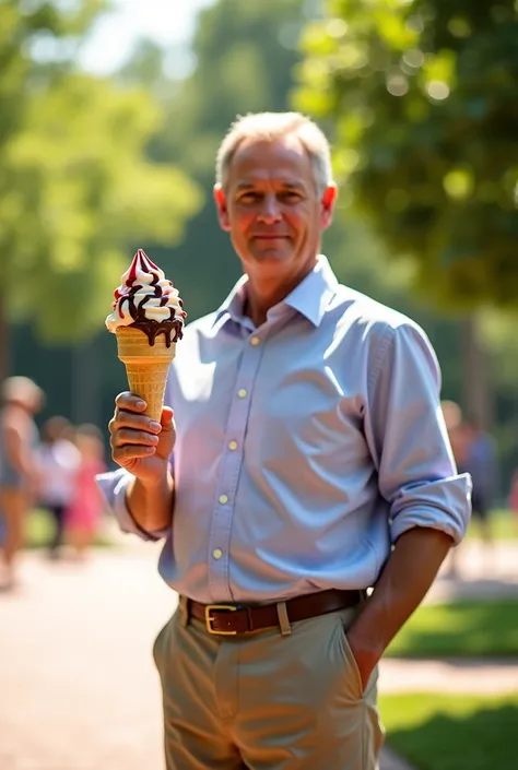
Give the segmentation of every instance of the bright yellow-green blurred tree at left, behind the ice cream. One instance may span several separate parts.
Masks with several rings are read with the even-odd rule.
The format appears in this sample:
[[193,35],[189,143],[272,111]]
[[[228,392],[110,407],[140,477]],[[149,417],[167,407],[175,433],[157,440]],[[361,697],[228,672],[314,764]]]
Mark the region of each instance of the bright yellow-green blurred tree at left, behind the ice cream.
[[[0,8],[2,33],[15,4]],[[93,5],[83,4],[82,22]],[[47,35],[84,29],[78,19],[64,24],[58,4],[40,13]],[[37,64],[32,28],[19,31],[14,52],[11,37],[0,38],[11,62],[0,70],[0,328],[30,320],[46,340],[80,340],[102,325],[130,246],[178,239],[201,198],[185,174],[145,157],[162,119],[154,99],[56,61]],[[4,333],[3,371],[5,345]]]

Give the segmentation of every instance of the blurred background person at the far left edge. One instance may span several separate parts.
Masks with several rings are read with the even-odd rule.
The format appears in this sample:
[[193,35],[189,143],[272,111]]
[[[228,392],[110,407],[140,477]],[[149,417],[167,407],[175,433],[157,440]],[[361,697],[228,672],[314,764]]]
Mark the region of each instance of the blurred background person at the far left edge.
[[44,392],[27,377],[9,377],[1,390],[0,516],[3,519],[2,588],[16,582],[16,556],[23,545],[24,524],[37,486],[38,429],[34,415],[44,404]]

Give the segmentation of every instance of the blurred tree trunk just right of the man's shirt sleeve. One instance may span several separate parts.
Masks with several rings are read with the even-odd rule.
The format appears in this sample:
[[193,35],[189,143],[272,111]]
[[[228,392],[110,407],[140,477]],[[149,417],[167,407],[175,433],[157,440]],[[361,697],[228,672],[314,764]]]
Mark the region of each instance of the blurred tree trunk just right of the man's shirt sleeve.
[[482,429],[491,430],[494,404],[488,362],[478,333],[474,316],[460,322],[460,345],[463,412],[467,417],[475,419]]

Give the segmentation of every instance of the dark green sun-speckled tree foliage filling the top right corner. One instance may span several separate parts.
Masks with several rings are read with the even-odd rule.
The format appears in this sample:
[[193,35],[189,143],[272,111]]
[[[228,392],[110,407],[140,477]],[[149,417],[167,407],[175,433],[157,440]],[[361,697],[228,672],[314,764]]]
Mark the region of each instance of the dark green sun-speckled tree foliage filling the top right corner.
[[330,0],[297,104],[335,127],[335,164],[439,307],[516,304],[514,0]]

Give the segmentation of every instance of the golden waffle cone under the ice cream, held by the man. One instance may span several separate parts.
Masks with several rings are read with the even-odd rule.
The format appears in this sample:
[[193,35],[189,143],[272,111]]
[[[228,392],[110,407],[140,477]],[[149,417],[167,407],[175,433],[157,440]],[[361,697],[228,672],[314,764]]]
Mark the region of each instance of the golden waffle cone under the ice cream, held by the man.
[[164,334],[158,334],[155,344],[150,345],[148,335],[134,327],[119,327],[116,336],[117,354],[126,367],[130,392],[145,401],[144,414],[160,423],[176,343],[167,347]]

